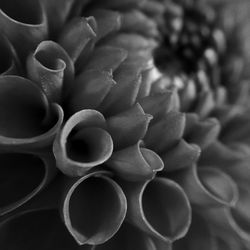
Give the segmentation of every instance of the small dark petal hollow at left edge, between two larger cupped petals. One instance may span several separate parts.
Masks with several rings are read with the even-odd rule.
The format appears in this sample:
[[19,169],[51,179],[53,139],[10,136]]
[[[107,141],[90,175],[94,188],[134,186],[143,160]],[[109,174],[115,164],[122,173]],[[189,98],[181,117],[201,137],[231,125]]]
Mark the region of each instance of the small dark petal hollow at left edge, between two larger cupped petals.
[[0,35],[0,75],[15,75],[19,71],[19,62],[16,51],[8,38]]

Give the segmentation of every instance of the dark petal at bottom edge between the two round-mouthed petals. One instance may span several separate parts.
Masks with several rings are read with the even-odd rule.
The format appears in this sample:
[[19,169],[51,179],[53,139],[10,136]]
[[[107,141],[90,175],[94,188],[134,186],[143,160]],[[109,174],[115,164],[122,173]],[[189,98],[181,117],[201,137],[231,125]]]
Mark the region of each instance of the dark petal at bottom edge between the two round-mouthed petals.
[[[106,243],[93,246],[91,250],[158,250],[153,240],[140,229],[124,222],[119,231]],[[166,250],[166,249],[165,249]]]

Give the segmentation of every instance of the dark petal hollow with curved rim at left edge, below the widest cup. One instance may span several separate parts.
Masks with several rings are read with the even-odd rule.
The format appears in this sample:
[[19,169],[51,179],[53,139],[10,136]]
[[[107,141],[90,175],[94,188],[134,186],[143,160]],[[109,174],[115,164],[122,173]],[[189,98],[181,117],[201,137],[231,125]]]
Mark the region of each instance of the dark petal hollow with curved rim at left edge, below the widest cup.
[[0,153],[0,215],[37,195],[56,174],[51,156]]

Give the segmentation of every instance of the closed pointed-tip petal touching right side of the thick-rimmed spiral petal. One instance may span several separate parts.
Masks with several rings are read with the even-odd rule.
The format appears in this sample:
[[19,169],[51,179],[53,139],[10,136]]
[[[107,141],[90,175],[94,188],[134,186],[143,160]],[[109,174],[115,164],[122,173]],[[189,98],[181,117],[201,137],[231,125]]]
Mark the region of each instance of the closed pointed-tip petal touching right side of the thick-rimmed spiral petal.
[[119,150],[136,144],[147,132],[152,116],[144,113],[139,104],[107,120],[107,130],[112,136],[114,148]]

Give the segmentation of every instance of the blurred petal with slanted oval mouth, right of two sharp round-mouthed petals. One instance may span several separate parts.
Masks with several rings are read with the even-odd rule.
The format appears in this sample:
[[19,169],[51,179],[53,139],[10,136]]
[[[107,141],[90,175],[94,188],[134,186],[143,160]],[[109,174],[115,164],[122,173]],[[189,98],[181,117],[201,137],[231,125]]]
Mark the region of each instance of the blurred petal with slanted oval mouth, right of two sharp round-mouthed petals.
[[193,165],[174,173],[173,179],[183,187],[191,203],[197,206],[234,206],[238,200],[236,183],[215,168]]

